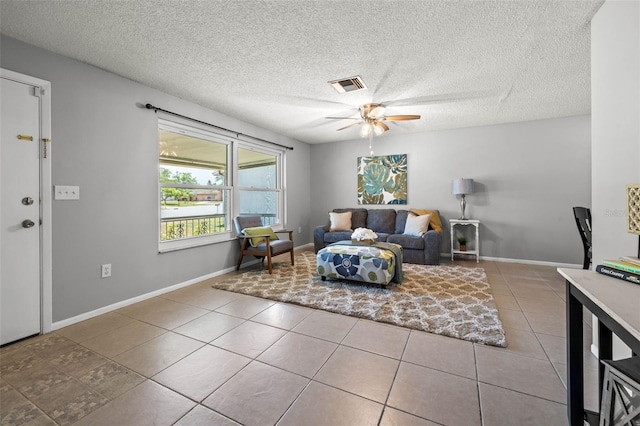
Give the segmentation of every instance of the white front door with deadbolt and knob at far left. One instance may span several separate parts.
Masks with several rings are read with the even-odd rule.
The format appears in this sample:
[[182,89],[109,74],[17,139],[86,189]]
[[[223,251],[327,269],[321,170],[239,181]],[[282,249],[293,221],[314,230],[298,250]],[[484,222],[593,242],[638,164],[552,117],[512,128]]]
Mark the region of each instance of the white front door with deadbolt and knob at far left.
[[0,79],[0,344],[40,333],[40,97]]

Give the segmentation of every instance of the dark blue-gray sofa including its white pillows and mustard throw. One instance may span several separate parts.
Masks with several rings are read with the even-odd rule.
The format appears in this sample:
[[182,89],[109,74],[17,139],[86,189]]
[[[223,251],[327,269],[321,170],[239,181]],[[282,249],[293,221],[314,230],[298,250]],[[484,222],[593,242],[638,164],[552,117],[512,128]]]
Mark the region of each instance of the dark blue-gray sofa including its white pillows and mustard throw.
[[316,253],[329,244],[351,239],[357,228],[372,230],[378,242],[400,245],[407,263],[440,264],[442,222],[438,210],[334,209],[329,213],[329,224],[314,230]]

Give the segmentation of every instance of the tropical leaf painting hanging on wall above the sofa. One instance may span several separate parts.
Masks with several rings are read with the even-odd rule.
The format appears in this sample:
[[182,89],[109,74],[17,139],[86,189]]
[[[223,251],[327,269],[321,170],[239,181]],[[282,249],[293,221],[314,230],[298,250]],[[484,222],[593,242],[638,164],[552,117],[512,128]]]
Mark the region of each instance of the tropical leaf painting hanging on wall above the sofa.
[[407,154],[358,157],[358,204],[407,204]]

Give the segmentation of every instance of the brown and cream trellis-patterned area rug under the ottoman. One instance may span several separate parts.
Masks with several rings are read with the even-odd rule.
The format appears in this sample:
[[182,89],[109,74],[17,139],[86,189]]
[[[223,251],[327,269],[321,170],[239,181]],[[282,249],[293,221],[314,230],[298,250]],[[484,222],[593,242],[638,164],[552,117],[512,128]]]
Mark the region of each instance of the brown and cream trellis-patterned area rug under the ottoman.
[[343,280],[322,281],[312,252],[296,254],[295,266],[279,262],[212,287],[395,324],[471,342],[506,347],[502,322],[482,268],[404,263],[402,284],[387,288]]

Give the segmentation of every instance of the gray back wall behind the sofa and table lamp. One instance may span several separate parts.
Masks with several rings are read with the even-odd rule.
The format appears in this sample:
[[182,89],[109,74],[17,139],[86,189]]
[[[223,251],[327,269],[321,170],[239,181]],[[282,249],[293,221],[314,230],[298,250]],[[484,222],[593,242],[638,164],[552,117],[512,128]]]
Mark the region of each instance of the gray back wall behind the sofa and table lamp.
[[[460,216],[451,181],[465,177],[476,181],[467,216],[482,222],[482,256],[581,264],[571,208],[591,205],[590,141],[590,117],[579,116],[412,135],[392,130],[373,149],[408,155],[407,207],[440,210],[442,252],[450,246],[447,220]],[[312,146],[314,224],[327,223],[333,208],[357,206],[356,159],[368,154],[364,140]]]

